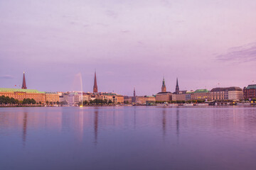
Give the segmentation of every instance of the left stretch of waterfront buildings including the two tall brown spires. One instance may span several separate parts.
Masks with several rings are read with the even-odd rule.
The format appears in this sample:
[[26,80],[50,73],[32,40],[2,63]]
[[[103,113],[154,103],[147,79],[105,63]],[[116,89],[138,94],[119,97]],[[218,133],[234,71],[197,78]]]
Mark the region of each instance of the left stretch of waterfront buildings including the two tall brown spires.
[[124,96],[115,93],[102,93],[97,91],[97,79],[95,72],[95,81],[93,93],[82,91],[67,91],[67,92],[47,92],[34,89],[27,89],[25,73],[23,72],[23,83],[21,89],[0,88],[0,96],[9,96],[10,98],[23,101],[24,98],[33,98],[36,103],[65,103],[70,106],[77,106],[82,101],[93,101],[96,98],[112,101],[111,103],[124,103]]

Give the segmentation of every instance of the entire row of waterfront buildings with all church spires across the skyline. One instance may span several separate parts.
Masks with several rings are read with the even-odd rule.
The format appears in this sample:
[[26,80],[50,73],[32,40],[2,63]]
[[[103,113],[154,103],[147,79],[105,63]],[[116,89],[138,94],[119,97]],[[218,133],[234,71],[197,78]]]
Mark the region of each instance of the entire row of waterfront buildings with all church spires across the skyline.
[[24,98],[33,98],[37,103],[65,103],[70,106],[77,106],[82,101],[93,101],[96,98],[111,101],[114,104],[131,103],[147,104],[157,101],[240,101],[243,99],[256,98],[256,84],[249,85],[244,89],[240,87],[197,89],[196,91],[180,91],[178,79],[176,79],[176,90],[171,93],[166,91],[165,80],[163,79],[161,92],[153,96],[136,96],[135,89],[133,96],[122,96],[115,93],[102,93],[97,90],[96,72],[94,77],[93,92],[67,91],[67,92],[47,92],[27,89],[25,73],[23,72],[23,83],[21,89],[0,88],[0,96],[9,96],[10,98],[22,101]]

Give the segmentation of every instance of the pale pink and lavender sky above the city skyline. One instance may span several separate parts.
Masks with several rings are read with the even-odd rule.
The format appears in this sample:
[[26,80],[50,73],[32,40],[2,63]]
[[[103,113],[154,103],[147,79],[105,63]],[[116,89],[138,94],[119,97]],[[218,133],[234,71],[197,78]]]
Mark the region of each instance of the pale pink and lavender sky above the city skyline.
[[2,0],[0,87],[132,96],[256,84],[255,0]]

